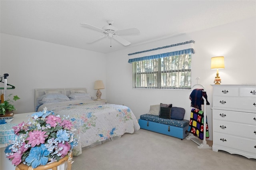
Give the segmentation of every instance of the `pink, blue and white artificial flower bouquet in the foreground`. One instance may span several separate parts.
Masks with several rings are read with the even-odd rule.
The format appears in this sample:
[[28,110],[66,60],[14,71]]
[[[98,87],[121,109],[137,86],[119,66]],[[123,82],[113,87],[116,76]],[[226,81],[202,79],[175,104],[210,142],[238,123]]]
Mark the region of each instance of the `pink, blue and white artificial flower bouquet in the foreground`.
[[33,121],[12,127],[16,138],[5,149],[12,164],[17,166],[23,162],[32,168],[46,165],[59,161],[78,144],[68,117],[61,119],[45,107],[43,112],[34,113],[31,118]]

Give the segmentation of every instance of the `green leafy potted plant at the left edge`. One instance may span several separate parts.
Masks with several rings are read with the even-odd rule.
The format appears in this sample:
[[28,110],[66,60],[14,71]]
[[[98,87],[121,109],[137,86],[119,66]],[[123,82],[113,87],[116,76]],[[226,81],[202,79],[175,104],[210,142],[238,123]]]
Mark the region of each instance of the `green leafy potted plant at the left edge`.
[[[9,99],[9,97],[11,96],[12,94],[8,95],[7,97],[7,100],[4,101],[3,103],[0,103],[0,117],[4,117],[4,116],[7,116],[6,113],[8,112],[12,112],[12,111],[15,111],[16,108],[14,105],[12,105],[13,101]],[[13,96],[13,100],[16,101],[20,99],[17,95],[16,96]],[[8,115],[8,116],[13,116],[13,113]]]

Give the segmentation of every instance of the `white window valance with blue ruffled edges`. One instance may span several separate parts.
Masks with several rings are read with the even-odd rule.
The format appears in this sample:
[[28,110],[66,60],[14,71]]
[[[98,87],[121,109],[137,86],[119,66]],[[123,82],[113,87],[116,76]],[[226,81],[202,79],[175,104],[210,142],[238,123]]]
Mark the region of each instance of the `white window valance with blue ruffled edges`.
[[157,59],[157,58],[168,57],[173,55],[195,53],[193,48],[194,43],[195,43],[194,40],[190,40],[188,42],[176,43],[176,44],[167,45],[164,47],[158,47],[154,49],[148,49],[145,51],[130,53],[128,54],[130,56],[128,63],[147,60],[147,59]]

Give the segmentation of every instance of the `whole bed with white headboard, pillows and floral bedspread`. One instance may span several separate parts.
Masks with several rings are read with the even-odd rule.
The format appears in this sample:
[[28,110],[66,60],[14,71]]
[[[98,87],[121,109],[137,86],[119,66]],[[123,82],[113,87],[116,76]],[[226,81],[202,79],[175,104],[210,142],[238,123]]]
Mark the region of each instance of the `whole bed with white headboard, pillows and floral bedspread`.
[[79,137],[73,148],[77,156],[82,150],[120,138],[124,133],[134,133],[140,125],[131,109],[94,101],[86,88],[35,89],[36,111],[53,111],[55,115],[68,117]]

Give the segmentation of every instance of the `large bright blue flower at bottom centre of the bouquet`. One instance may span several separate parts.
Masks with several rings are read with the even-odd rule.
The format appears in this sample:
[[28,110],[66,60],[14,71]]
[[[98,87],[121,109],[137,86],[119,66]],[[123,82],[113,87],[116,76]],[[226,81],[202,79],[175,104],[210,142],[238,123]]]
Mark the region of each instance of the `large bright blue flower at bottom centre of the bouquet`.
[[40,147],[32,147],[28,157],[25,161],[28,164],[31,164],[32,168],[36,168],[39,165],[46,165],[48,162],[48,155],[50,152],[46,149],[44,144],[41,144]]

